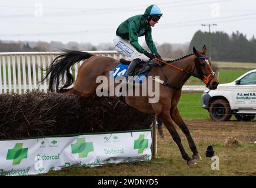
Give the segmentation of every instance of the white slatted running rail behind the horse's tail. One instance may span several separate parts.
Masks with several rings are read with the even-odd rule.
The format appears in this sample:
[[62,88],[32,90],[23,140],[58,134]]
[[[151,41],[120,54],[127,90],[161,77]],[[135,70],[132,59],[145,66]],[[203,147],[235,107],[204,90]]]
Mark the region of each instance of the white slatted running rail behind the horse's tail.
[[[94,55],[123,58],[117,51],[88,51]],[[61,52],[2,52],[0,53],[0,93],[25,93],[38,89],[46,92],[48,80],[41,83],[45,69]],[[77,77],[82,61],[73,66],[71,72]]]

